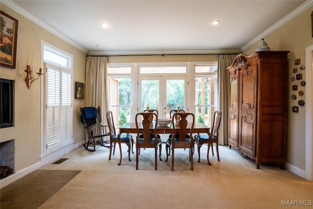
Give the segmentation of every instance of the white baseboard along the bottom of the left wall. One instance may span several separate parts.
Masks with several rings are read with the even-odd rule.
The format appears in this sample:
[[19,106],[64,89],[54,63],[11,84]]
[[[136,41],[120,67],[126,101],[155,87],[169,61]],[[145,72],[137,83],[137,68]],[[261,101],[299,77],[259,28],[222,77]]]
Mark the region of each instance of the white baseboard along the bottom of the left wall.
[[78,142],[77,144],[69,144],[65,147],[62,147],[59,150],[56,150],[52,153],[49,153],[45,156],[41,157],[40,162],[32,164],[31,166],[27,168],[23,168],[22,170],[16,171],[14,174],[9,175],[8,177],[2,179],[0,181],[0,188],[7,186],[8,184],[22,178],[23,176],[33,172],[36,169],[39,169],[41,166],[51,163],[52,161],[55,161],[59,158],[61,158],[63,155],[67,154],[68,152],[72,151],[73,149],[76,149],[83,145],[84,141]]

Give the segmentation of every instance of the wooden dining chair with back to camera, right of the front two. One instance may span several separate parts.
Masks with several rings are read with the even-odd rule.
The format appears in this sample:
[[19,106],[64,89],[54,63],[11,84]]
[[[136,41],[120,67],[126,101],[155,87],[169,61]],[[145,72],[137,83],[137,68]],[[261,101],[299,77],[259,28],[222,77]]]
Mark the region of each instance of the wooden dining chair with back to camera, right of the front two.
[[[179,124],[175,124],[175,117],[179,116]],[[187,124],[188,120],[187,117],[191,116],[192,120],[189,122],[191,123],[190,131],[187,131]],[[172,127],[173,127],[173,135],[171,139],[167,139],[166,142],[166,162],[168,160],[168,150],[172,148],[172,170],[174,170],[174,153],[176,148],[188,148],[189,149],[189,161],[191,165],[191,170],[194,170],[193,164],[193,127],[195,124],[195,116],[192,113],[175,113],[172,117]],[[187,137],[189,136],[189,137]]]

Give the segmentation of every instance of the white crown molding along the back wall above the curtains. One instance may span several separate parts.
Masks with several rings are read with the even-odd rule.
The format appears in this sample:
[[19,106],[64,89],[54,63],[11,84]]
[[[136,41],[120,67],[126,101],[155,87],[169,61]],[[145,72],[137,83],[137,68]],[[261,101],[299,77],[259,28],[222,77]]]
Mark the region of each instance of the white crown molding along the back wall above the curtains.
[[240,48],[235,49],[194,49],[194,50],[129,50],[129,51],[89,51],[90,56],[138,56],[138,55],[207,55],[207,54],[237,54]]

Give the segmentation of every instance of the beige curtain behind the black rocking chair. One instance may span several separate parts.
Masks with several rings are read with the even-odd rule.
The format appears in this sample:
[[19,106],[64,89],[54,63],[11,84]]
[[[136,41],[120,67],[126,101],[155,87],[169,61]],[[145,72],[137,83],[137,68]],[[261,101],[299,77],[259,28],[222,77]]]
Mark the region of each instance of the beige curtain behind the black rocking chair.
[[87,57],[85,105],[86,107],[100,107],[103,123],[105,122],[105,113],[108,110],[106,71],[107,57]]

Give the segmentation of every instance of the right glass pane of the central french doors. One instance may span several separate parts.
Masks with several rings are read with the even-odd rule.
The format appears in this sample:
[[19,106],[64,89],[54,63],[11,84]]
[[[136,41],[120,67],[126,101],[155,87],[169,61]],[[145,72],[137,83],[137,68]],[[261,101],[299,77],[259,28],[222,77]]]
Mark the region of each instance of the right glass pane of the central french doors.
[[181,80],[166,80],[166,115],[169,118],[171,110],[184,110],[185,99],[185,81]]

